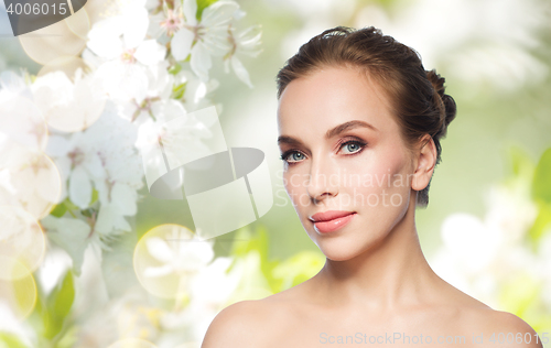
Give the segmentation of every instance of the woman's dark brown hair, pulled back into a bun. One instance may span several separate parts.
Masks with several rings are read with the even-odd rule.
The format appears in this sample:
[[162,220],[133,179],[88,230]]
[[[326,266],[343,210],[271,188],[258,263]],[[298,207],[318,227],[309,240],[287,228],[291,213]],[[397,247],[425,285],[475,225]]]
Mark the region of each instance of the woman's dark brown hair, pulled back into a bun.
[[[445,79],[425,70],[419,54],[380,30],[337,26],[324,31],[303,44],[278,73],[278,99],[293,79],[307,76],[323,66],[349,65],[366,69],[383,88],[402,138],[411,151],[424,134],[436,145],[436,164],[441,162],[440,139],[455,118],[454,99],[446,95]],[[429,185],[418,194],[417,205],[429,204]]]

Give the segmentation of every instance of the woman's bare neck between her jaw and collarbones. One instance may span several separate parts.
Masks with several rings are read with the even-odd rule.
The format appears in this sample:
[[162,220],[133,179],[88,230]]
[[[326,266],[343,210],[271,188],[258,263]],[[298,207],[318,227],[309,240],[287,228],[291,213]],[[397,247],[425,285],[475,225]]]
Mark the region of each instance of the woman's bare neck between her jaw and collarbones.
[[426,303],[442,285],[421,250],[414,206],[380,243],[346,261],[327,259],[312,281],[312,295],[327,305],[380,313]]

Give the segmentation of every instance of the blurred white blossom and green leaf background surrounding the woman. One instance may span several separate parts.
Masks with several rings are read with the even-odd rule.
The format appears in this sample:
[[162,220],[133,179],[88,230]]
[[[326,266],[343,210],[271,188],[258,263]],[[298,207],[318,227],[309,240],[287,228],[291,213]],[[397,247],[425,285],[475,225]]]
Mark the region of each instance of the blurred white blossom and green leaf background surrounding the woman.
[[[88,0],[0,35],[0,347],[199,347],[225,306],[314,275],[274,76],[335,25],[381,28],[446,77],[458,116],[417,213],[423,250],[551,340],[550,19],[545,0]],[[140,153],[176,117],[205,151],[208,124],[187,115],[207,106],[228,145],[266,153],[274,205],[201,242],[185,200],[149,195]]]

